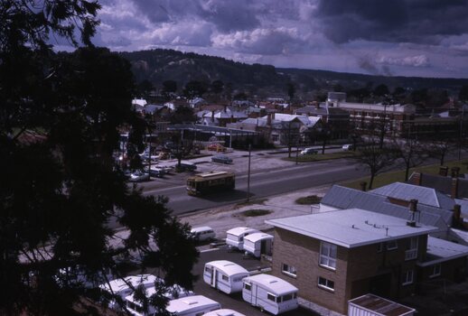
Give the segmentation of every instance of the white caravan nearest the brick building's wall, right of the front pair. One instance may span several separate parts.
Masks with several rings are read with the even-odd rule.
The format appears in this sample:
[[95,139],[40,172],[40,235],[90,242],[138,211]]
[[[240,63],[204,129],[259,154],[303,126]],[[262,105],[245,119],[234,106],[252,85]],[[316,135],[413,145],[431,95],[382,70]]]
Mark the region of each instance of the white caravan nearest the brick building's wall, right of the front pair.
[[242,299],[274,315],[298,307],[297,288],[283,279],[268,274],[245,278]]

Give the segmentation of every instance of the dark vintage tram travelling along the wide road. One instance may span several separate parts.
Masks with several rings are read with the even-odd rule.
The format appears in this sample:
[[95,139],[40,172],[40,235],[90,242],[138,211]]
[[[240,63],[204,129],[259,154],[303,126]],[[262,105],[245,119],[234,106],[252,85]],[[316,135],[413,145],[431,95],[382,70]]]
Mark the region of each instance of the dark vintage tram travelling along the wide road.
[[187,193],[203,195],[214,191],[232,190],[236,185],[233,172],[207,172],[187,179]]

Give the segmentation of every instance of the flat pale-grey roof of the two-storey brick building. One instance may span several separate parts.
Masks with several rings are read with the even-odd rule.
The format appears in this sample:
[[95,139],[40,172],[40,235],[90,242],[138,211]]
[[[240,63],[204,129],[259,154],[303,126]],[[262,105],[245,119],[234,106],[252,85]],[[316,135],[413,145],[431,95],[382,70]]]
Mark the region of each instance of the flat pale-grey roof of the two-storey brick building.
[[283,228],[334,245],[353,248],[383,241],[426,235],[437,228],[379,214],[364,209],[342,209],[291,218],[266,220],[276,228]]

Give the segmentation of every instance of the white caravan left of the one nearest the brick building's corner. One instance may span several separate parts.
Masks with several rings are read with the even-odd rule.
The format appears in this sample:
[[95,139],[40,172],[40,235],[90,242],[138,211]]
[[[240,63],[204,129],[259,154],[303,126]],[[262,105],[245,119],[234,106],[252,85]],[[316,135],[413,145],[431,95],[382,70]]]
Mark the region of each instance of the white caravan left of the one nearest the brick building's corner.
[[240,265],[227,260],[211,261],[205,264],[203,281],[224,293],[242,291],[242,279],[248,271]]

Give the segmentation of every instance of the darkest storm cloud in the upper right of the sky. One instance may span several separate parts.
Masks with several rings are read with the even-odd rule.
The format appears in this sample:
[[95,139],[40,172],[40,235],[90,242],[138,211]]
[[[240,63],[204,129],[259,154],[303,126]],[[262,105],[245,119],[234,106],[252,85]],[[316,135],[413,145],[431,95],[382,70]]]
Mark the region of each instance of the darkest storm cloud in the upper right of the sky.
[[436,43],[468,29],[468,0],[320,0],[314,18],[337,43]]

